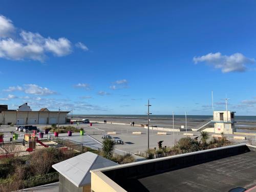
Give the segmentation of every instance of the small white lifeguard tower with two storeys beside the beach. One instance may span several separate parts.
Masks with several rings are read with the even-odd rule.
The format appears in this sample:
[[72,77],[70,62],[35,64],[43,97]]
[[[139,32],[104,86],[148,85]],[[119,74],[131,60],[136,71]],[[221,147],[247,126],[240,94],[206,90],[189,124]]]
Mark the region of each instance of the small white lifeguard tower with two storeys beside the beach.
[[233,134],[236,132],[234,127],[234,113],[231,111],[214,111],[214,131],[215,133]]

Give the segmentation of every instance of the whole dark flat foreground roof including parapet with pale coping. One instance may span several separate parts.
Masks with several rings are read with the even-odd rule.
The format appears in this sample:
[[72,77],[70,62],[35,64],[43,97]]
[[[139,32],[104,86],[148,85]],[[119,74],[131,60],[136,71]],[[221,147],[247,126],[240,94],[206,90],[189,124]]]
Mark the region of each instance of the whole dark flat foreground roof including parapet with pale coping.
[[256,184],[255,153],[242,143],[99,170],[126,191],[229,191]]

